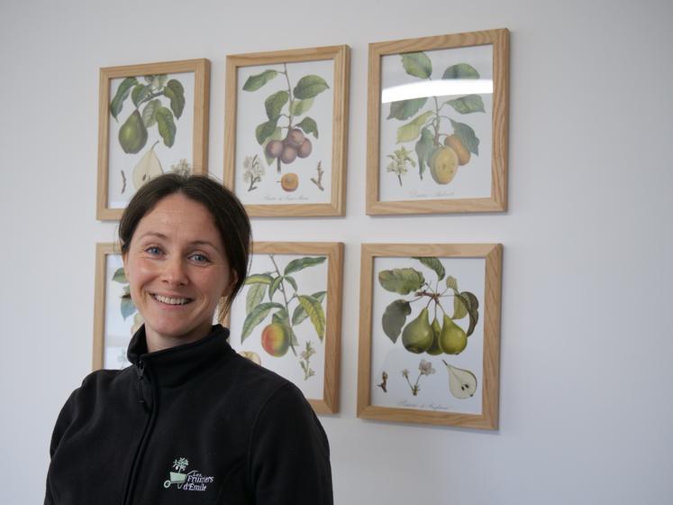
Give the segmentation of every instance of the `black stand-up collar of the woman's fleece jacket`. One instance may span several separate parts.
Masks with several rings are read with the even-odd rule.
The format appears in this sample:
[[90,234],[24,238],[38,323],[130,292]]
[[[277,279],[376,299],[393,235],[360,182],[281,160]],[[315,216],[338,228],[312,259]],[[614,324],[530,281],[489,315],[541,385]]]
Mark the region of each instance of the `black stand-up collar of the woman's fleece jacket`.
[[234,353],[227,343],[228,337],[227,328],[214,325],[208,335],[196,342],[148,353],[143,325],[133,335],[127,356],[136,367],[148,367],[152,379],[156,380],[159,386],[177,386],[200,375],[214,363]]

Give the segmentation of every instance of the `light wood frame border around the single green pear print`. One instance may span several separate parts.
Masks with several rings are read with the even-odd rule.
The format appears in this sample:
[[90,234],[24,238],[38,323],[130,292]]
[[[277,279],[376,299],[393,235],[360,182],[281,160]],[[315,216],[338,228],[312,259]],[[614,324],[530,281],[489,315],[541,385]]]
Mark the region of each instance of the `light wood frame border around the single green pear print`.
[[[123,208],[111,208],[108,201],[109,152],[110,152],[110,81],[114,78],[128,78],[158,74],[194,73],[194,124],[192,131],[192,171],[208,171],[208,111],[210,101],[210,61],[179,60],[123,67],[100,69],[100,92],[98,103],[98,188],[96,198],[96,219],[117,220]],[[189,104],[190,102],[187,102]],[[184,126],[182,127],[185,128]],[[179,132],[179,128],[178,128]],[[131,178],[129,174],[128,178]]]

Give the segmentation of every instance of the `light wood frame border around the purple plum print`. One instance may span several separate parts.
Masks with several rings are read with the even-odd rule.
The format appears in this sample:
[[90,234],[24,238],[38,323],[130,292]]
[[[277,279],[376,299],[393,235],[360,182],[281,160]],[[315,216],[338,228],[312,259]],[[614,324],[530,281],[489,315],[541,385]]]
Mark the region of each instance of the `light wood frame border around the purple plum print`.
[[228,55],[226,60],[224,184],[234,192],[236,160],[236,118],[238,69],[241,67],[334,60],[334,103],[332,107],[332,194],[330,203],[246,205],[250,216],[343,216],[345,213],[346,163],[348,152],[348,110],[350,87],[350,47],[327,46],[299,50],[279,50]]

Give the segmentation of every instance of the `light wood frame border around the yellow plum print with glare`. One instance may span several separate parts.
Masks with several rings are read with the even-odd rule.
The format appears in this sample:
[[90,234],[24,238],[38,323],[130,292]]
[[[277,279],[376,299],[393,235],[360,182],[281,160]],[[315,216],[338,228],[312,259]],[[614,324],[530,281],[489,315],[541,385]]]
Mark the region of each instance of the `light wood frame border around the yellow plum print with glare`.
[[[491,196],[482,198],[410,199],[381,201],[380,184],[380,114],[381,58],[424,50],[443,50],[469,46],[493,45],[493,114]],[[497,212],[507,208],[507,145],[509,122],[509,31],[455,33],[420,39],[386,41],[369,44],[367,135],[367,214],[441,214]],[[415,153],[413,154],[415,156]],[[462,170],[462,169],[459,169]]]

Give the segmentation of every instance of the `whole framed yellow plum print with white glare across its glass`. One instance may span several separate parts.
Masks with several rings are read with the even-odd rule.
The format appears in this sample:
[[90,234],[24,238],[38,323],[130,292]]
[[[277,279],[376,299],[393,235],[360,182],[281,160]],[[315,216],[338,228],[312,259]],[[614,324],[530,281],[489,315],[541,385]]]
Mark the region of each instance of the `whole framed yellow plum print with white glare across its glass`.
[[506,210],[508,30],[371,43],[368,75],[368,215]]

